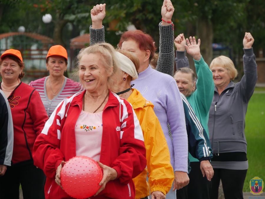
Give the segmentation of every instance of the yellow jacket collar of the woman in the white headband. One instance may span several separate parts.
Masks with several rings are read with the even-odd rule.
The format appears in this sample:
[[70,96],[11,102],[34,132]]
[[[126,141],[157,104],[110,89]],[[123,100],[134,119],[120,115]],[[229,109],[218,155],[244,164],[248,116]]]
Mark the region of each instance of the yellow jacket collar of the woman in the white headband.
[[133,109],[144,108],[145,106],[152,106],[154,108],[153,103],[147,101],[135,88],[132,88],[132,94],[128,97],[127,101],[132,104]]

